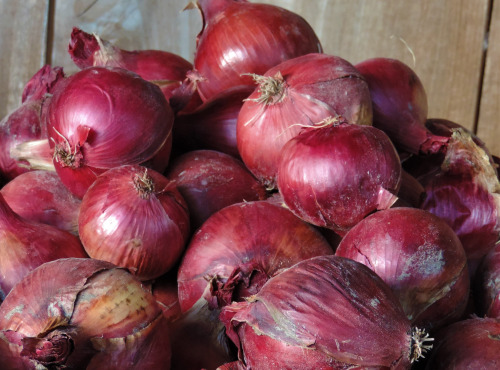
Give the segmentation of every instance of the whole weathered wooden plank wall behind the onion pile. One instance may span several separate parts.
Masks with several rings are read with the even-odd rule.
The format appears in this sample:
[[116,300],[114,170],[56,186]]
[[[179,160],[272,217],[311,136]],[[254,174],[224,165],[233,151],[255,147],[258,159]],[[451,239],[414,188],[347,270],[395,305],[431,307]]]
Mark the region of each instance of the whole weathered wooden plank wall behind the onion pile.
[[[73,26],[124,49],[163,49],[192,61],[201,29],[190,0],[0,0],[0,117],[45,63],[76,71]],[[256,2],[257,0],[255,0]],[[326,53],[352,63],[398,58],[420,76],[429,116],[476,132],[500,156],[500,0],[260,0],[302,15]]]

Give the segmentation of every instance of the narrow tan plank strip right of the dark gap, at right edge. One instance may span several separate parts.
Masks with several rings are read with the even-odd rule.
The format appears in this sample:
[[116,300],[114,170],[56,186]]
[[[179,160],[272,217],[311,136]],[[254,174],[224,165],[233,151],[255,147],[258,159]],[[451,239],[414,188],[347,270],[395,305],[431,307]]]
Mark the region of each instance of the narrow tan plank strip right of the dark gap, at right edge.
[[495,1],[491,14],[488,52],[481,94],[477,135],[490,151],[500,157],[500,2]]

